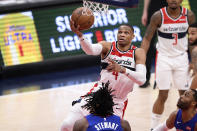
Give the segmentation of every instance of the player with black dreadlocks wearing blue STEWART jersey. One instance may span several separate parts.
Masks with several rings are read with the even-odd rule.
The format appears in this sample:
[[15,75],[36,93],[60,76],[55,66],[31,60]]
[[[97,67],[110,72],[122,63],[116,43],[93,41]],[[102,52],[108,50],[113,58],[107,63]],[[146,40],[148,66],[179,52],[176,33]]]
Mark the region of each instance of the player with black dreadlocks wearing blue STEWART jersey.
[[90,115],[77,120],[73,131],[131,131],[128,121],[113,115],[112,89],[109,82],[93,93],[85,96],[87,103],[82,106],[90,111]]

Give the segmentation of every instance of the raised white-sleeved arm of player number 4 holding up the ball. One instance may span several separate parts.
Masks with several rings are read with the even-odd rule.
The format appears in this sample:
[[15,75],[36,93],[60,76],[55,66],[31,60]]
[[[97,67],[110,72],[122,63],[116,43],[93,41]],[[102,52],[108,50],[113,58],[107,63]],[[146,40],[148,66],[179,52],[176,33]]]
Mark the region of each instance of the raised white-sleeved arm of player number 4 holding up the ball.
[[[100,55],[106,54],[109,50],[108,42],[102,41],[100,43],[92,44],[83,37],[83,33],[79,30],[80,26],[74,26],[74,21],[70,21],[71,30],[79,37],[81,47],[87,55]],[[105,44],[106,43],[106,44]]]

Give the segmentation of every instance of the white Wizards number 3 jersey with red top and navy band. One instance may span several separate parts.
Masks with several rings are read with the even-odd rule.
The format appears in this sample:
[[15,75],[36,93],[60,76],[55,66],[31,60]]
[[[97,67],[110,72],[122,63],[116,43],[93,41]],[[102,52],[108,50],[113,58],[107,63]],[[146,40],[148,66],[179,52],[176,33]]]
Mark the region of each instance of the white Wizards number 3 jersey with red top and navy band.
[[178,56],[188,50],[188,39],[186,37],[189,27],[187,19],[187,9],[181,7],[181,14],[173,19],[167,13],[167,8],[160,9],[162,23],[158,28],[158,46],[159,53],[166,56]]

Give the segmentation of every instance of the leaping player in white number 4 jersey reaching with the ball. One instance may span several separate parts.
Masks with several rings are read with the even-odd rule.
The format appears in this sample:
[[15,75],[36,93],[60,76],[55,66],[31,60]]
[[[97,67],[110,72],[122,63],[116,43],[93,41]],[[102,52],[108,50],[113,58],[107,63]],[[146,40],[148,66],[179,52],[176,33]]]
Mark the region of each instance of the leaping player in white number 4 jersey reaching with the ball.
[[[91,91],[99,89],[102,82],[109,81],[109,87],[114,90],[114,103],[117,104],[113,107],[114,114],[122,117],[127,95],[132,91],[134,83],[142,85],[146,81],[145,52],[131,44],[134,38],[133,27],[121,25],[118,29],[117,42],[101,41],[96,44],[89,43],[78,30],[79,27],[74,27],[72,20],[71,29],[78,35],[86,54],[101,55],[101,79]],[[72,130],[74,122],[88,114],[81,105],[84,105],[83,99],[74,104],[63,122],[61,131]]]

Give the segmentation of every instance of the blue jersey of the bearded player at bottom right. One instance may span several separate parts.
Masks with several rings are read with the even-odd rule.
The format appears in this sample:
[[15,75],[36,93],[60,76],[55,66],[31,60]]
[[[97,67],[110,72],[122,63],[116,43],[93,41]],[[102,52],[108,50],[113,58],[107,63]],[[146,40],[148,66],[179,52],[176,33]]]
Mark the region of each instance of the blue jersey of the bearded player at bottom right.
[[177,129],[177,131],[194,131],[196,123],[197,123],[197,114],[191,120],[183,123],[182,110],[179,109],[176,115],[174,126]]

